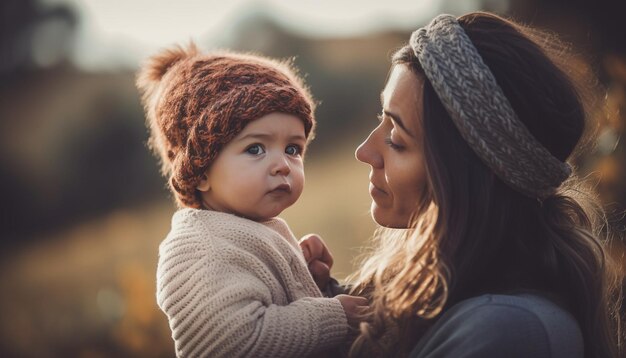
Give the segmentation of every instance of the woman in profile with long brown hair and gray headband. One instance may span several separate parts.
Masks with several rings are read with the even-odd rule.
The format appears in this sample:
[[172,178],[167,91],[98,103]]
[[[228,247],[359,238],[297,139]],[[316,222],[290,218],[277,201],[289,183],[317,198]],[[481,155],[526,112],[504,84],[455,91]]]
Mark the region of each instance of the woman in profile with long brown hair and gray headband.
[[372,309],[351,355],[620,354],[601,211],[567,164],[585,108],[538,36],[440,15],[393,56],[356,157],[374,220],[405,230],[382,229],[352,277]]

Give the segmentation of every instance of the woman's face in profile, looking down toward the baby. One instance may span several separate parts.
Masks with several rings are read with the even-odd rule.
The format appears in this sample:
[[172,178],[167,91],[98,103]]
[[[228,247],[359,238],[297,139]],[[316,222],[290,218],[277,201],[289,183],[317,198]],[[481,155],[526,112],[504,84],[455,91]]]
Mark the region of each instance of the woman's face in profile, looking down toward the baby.
[[385,227],[407,228],[425,193],[423,84],[406,65],[394,66],[381,93],[380,124],[356,150],[371,166],[372,217]]

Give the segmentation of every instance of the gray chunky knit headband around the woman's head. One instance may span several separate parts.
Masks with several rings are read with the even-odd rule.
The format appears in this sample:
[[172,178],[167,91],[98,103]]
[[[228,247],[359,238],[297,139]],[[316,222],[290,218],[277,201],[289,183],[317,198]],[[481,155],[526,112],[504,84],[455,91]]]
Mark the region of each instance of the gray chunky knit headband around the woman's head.
[[517,118],[454,16],[437,16],[411,35],[410,44],[461,136],[501,180],[545,198],[569,177],[571,167]]

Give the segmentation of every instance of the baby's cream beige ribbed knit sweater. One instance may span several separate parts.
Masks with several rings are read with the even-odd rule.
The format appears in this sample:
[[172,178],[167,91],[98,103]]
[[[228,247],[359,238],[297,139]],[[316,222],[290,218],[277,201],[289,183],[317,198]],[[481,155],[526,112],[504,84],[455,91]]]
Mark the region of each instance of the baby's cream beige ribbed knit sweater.
[[159,247],[157,302],[179,357],[306,357],[348,333],[279,218],[177,211]]

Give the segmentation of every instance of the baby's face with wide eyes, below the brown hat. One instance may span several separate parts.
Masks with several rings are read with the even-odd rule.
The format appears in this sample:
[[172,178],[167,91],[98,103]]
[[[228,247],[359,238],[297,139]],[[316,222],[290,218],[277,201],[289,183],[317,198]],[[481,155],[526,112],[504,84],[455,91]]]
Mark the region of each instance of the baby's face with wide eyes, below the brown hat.
[[210,209],[262,221],[298,200],[304,187],[304,124],[270,113],[250,122],[217,156],[198,186]]

